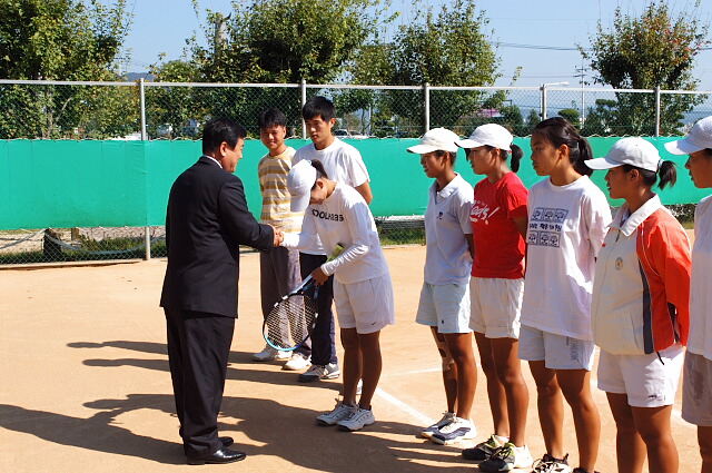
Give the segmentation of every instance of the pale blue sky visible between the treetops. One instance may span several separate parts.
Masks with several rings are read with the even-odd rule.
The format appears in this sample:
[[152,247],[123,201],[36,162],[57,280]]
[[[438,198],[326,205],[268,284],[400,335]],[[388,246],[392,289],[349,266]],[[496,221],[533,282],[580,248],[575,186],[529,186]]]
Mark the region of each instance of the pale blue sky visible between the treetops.
[[[443,0],[429,1],[439,8]],[[129,71],[145,71],[158,59],[160,52],[167,59],[179,59],[186,47],[186,39],[194,32],[205,42],[200,31],[200,21],[196,18],[191,0],[128,0],[127,8],[134,11],[134,23],[125,42],[130,49],[131,62]],[[199,0],[201,11],[209,8],[228,13],[231,0]],[[426,2],[427,3],[427,2]],[[692,0],[673,0],[673,11],[685,8],[691,10]],[[712,2],[703,1],[701,17],[712,20]],[[394,9],[402,16],[396,20],[414,20],[414,11],[409,0],[393,0]],[[617,6],[624,11],[641,12],[646,4],[644,0],[490,0],[479,1],[481,8],[490,18],[493,42],[510,45],[530,45],[558,48],[574,48],[576,45],[589,46],[589,38],[595,33],[599,20],[610,26]],[[205,20],[201,14],[200,20]],[[502,78],[500,86],[508,86],[512,75],[522,67],[517,86],[540,86],[544,82],[568,81],[577,87],[580,78],[576,68],[582,67],[577,51],[550,49],[525,49],[502,46],[498,49]],[[586,67],[586,65],[583,65]],[[694,75],[701,79],[699,89],[712,90],[712,50],[702,51],[698,56]],[[589,70],[587,80],[592,82]]]

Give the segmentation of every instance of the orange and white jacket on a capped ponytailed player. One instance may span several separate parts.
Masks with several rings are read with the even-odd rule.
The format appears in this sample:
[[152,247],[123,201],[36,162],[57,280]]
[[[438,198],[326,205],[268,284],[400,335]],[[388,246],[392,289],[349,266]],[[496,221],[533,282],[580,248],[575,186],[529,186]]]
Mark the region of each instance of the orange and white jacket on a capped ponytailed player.
[[593,342],[614,355],[642,355],[690,333],[690,240],[657,196],[621,223],[623,205],[599,253],[593,279]]

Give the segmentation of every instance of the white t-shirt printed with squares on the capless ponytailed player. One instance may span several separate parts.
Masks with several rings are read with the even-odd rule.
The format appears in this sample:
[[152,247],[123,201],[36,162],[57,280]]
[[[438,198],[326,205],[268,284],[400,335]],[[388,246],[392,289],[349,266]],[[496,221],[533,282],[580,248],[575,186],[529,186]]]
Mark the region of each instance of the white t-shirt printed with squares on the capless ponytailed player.
[[611,223],[603,191],[587,176],[530,189],[522,325],[592,341],[595,257]]

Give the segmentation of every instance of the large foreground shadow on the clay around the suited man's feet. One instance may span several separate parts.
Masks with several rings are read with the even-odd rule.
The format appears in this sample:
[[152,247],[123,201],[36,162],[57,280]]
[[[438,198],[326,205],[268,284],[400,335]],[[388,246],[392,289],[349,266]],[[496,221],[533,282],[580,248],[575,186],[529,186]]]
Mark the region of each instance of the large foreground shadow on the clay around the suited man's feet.
[[[89,418],[1,404],[0,427],[59,445],[164,464],[184,464],[185,456],[178,441],[167,442],[139,435],[117,425],[118,416],[132,411],[157,410],[174,416],[172,402],[172,396],[160,394],[130,394],[123,400],[98,400],[85,404],[99,411]],[[231,396],[224,398],[222,414],[238,421],[220,422],[221,433],[229,434],[237,430],[259,443],[259,446],[236,446],[245,450],[253,460],[256,460],[255,456],[276,456],[315,471],[362,473],[390,469],[426,471],[425,465],[412,462],[437,461],[443,456],[442,447],[414,442],[414,427],[408,424],[377,422],[359,433],[340,432],[335,427],[318,426],[315,417],[319,412],[314,410],[285,406],[269,400]],[[288,428],[285,428],[286,424]],[[175,435],[178,438],[177,421]],[[394,435],[404,440],[394,441]],[[408,464],[407,467],[404,463]],[[443,464],[442,467],[447,465]]]

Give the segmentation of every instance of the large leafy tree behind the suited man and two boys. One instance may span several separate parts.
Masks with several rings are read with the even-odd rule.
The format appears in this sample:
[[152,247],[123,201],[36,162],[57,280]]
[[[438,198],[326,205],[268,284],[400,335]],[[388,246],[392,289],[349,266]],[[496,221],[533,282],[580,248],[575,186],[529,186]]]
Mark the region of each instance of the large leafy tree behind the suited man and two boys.
[[[253,0],[233,12],[207,11],[208,47],[196,41],[191,60],[206,82],[310,83],[335,80],[375,31],[382,0]],[[194,7],[198,12],[197,1]],[[211,90],[209,116],[227,115],[257,132],[256,117],[270,106],[300,121],[299,90]]]

